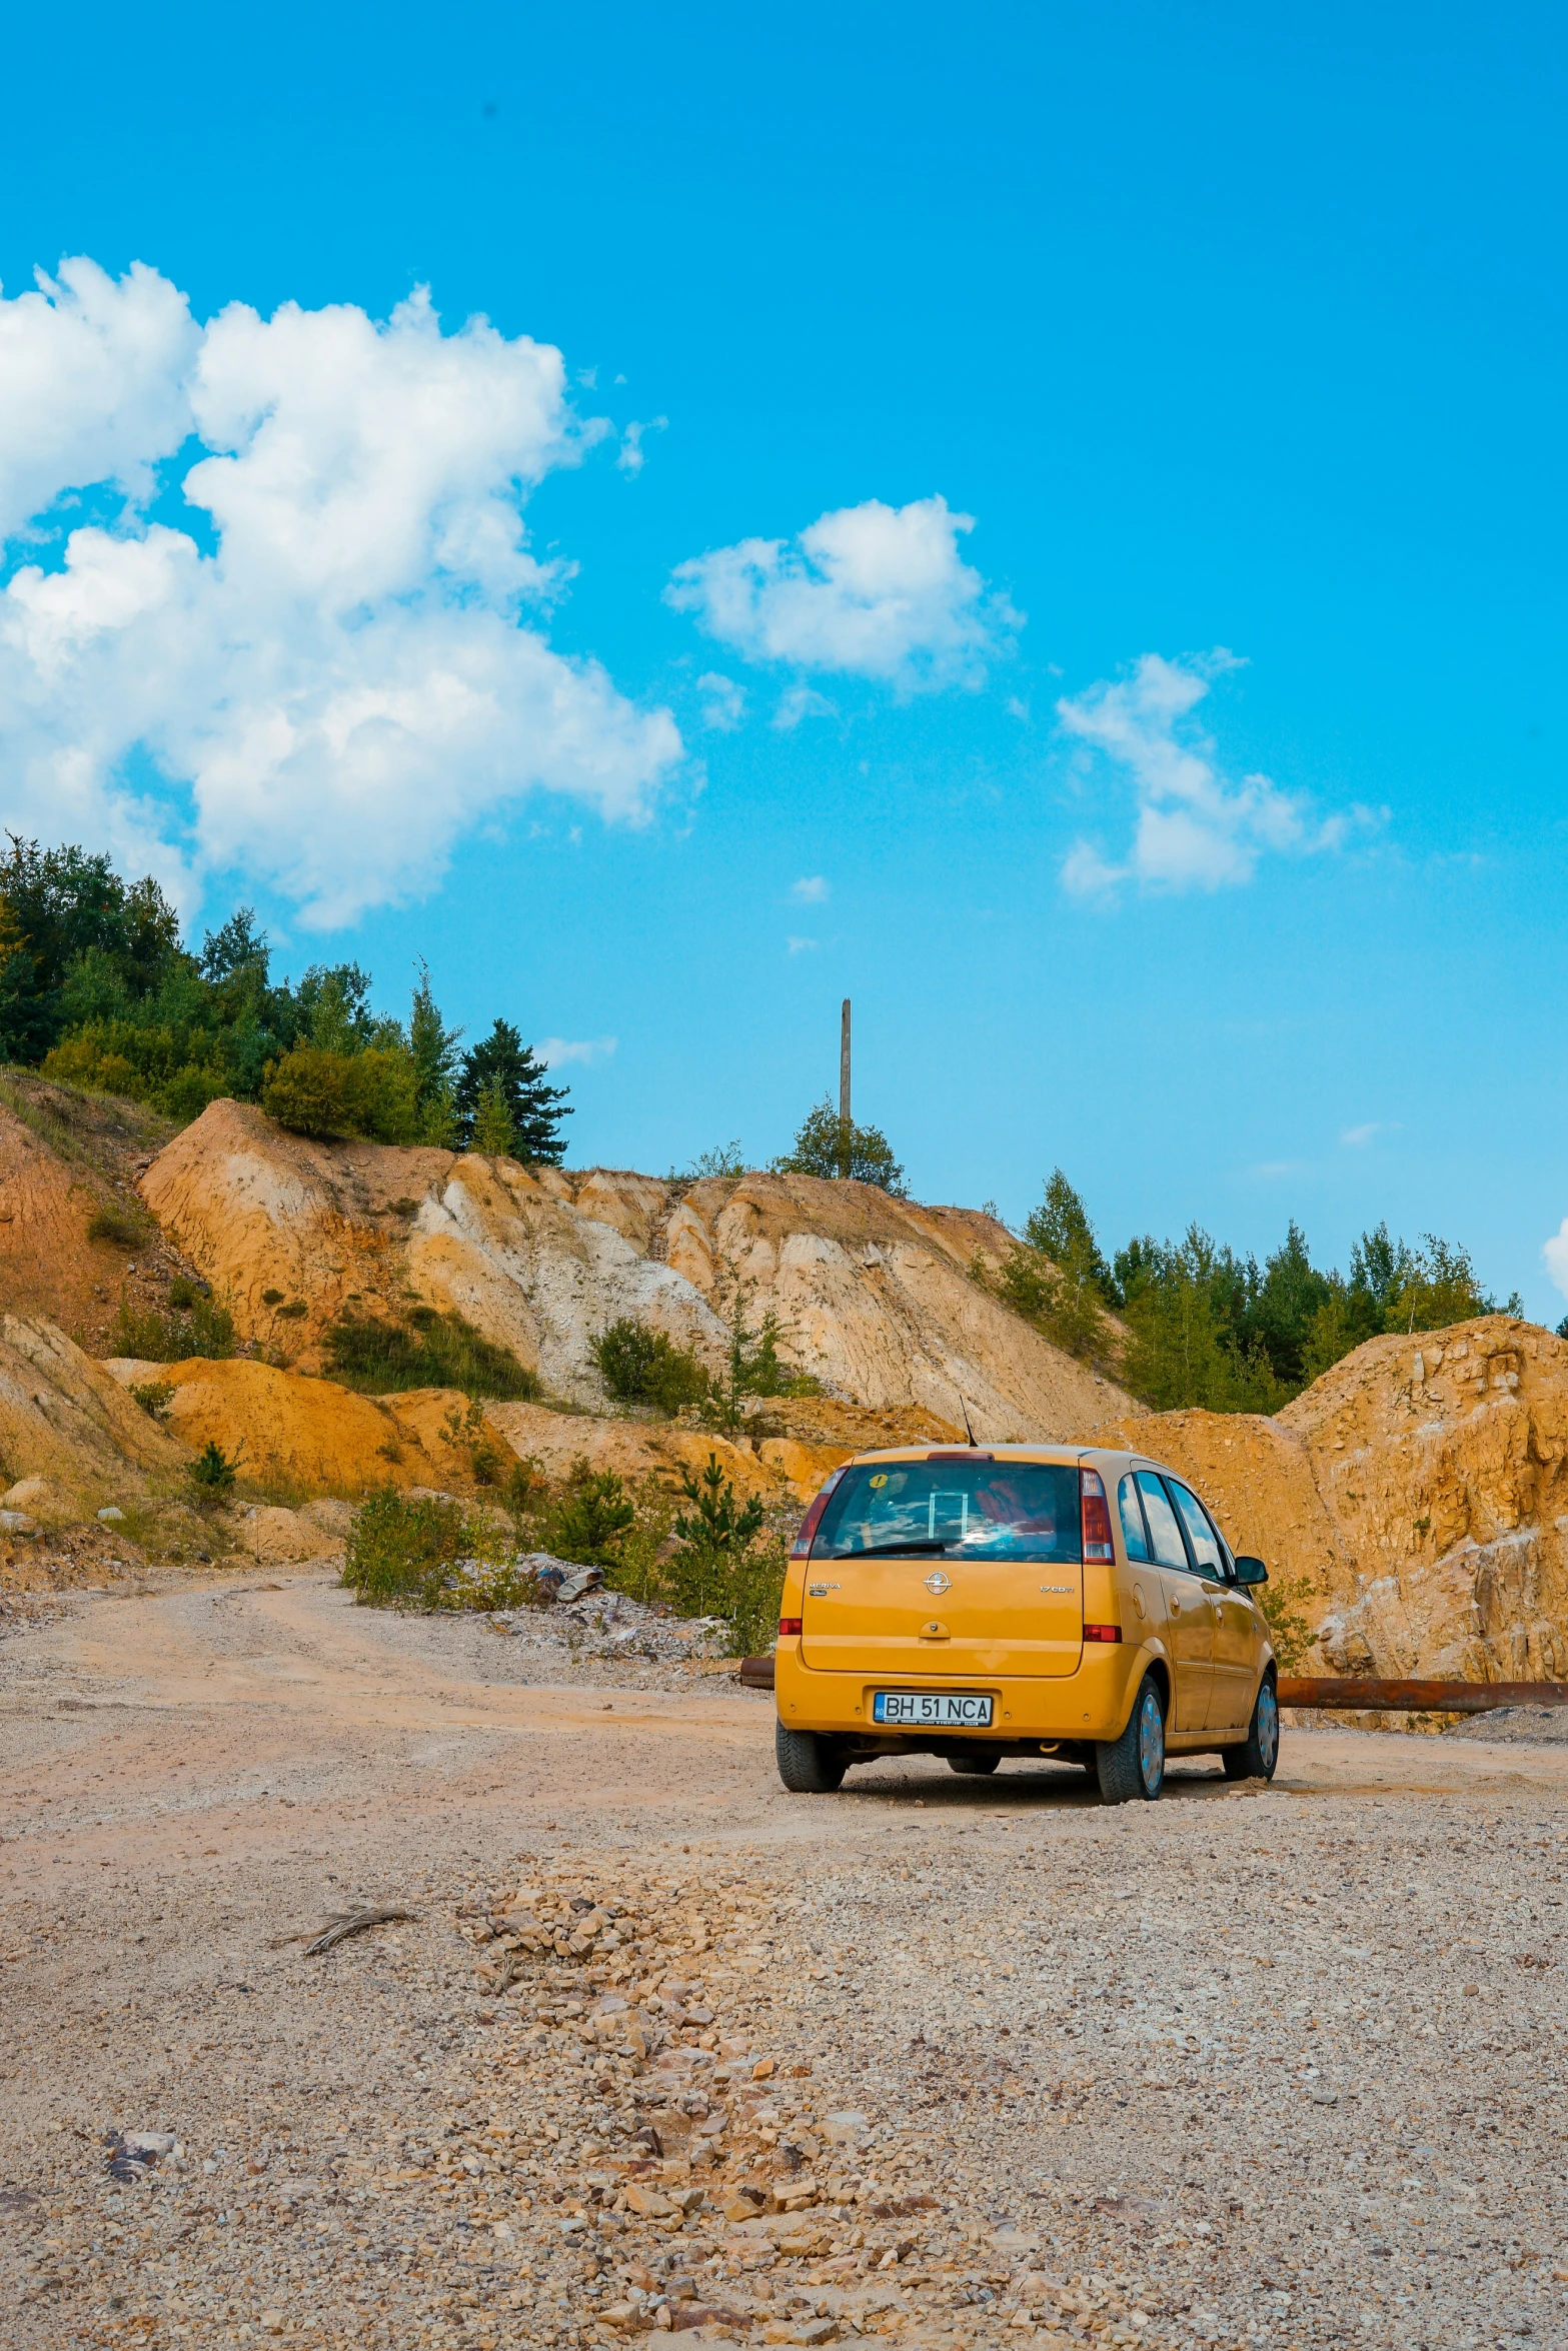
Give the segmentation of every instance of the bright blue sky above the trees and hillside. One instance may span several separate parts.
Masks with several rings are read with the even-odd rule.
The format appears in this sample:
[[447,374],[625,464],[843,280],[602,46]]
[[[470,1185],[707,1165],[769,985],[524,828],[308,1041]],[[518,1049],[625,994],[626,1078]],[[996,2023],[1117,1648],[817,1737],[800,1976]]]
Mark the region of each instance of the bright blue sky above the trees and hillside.
[[[162,379],[110,383],[113,461],[82,395],[56,475],[21,468],[28,625],[78,658],[49,583],[82,571],[85,522],[110,569],[188,545],[207,602],[160,588],[134,665],[92,689],[33,639],[0,668],[5,813],[162,842],[197,926],[252,898],[284,964],[355,955],[397,1002],[423,952],[449,1016],[592,1049],[564,1065],[576,1161],[780,1150],[851,994],[858,1112],[919,1197],[1018,1220],[1060,1161],[1110,1244],[1199,1218],[1262,1253],[1295,1215],[1340,1262],[1387,1215],[1556,1321],[1563,49],[1537,7],[87,7],[63,85],[33,19],[7,299],[73,254],[115,282],[146,263],[193,331],[233,303],[386,322],[428,284],[449,334],[494,322],[475,369],[512,369],[508,414],[536,397],[517,339],[564,355],[555,421],[508,430],[538,458],[527,552],[576,569],[463,555],[440,616],[393,571],[378,607],[343,602],[341,661],[376,628],[393,649],[381,694],[414,609],[458,651],[489,628],[475,661],[527,625],[536,675],[489,736],[442,750],[435,726],[397,809],[374,759],[346,809],[320,762],[273,797],[261,722],[214,741],[237,630],[275,628],[299,694],[329,691],[299,607],[277,618],[296,538],[259,501],[287,491],[261,444],[216,508],[188,475],[303,400],[296,362],[209,343],[195,426]],[[174,381],[195,343],[158,317]],[[80,390],[73,348],[12,409],[12,454]],[[343,362],[364,414],[411,381],[390,350]],[[364,513],[423,463],[404,426]],[[94,489],[139,451],[141,487]],[[501,435],[491,475],[510,463]],[[858,515],[860,562],[867,501],[938,541],[877,656],[799,545]],[[736,574],[729,632],[712,569],[668,600],[745,541],[778,552]],[[583,710],[524,790],[508,757],[557,686]]]

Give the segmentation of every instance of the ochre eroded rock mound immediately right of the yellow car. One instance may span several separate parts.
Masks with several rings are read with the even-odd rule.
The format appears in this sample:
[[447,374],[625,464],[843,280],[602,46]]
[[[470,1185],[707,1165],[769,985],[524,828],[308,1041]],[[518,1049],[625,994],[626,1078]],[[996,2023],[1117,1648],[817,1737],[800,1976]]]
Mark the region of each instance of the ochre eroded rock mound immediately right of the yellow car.
[[1540,1324],[1368,1340],[1274,1420],[1117,1432],[1312,1585],[1309,1672],[1568,1679],[1568,1345]]

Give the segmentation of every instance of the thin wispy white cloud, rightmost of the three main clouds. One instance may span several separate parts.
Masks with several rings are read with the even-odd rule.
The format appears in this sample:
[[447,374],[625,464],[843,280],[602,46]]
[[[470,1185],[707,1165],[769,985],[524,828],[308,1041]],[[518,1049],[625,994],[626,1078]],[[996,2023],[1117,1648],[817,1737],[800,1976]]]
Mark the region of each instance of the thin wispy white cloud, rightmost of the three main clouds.
[[1119,884],[1187,891],[1251,882],[1269,851],[1342,846],[1371,811],[1316,820],[1305,797],[1281,792],[1267,776],[1229,781],[1213,743],[1192,712],[1213,679],[1239,668],[1225,649],[1204,661],[1164,661],[1145,654],[1131,677],[1103,682],[1056,705],[1065,731],[1081,745],[1086,778],[1110,773],[1131,785],[1131,842],[1107,856],[1091,839],[1074,842],[1063,882],[1077,896],[1110,896]]

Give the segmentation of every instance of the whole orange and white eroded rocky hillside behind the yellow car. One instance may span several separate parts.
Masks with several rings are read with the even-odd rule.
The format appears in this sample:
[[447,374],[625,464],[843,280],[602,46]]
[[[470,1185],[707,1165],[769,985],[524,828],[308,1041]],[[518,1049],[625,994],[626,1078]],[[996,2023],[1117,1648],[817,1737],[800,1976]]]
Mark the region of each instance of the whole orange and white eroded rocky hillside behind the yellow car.
[[[299,1493],[463,1488],[463,1396],[371,1399],[317,1375],[341,1314],[423,1302],[458,1307],[538,1373],[545,1401],[491,1404],[487,1422],[550,1474],[585,1455],[670,1479],[717,1446],[738,1491],[806,1495],[856,1448],[957,1436],[966,1399],[980,1439],[1098,1436],[1185,1469],[1232,1542],[1300,1587],[1309,1667],[1568,1676],[1568,1345],[1537,1324],[1371,1340],[1272,1420],[1150,1415],[973,1279],[1009,1237],[966,1208],[809,1178],[661,1183],[306,1143],[235,1103],[148,1157],[110,1131],[113,1105],[21,1107],[28,1124],[0,1110],[0,1469],[56,1526],[110,1500],[150,1507],[209,1439]],[[89,1237],[101,1211],[153,1211],[134,1260]],[[172,1270],[200,1272],[240,1335],[292,1368],[94,1361],[120,1286],[158,1302]],[[820,1394],[769,1404],[733,1441],[607,1411],[597,1331],[635,1314],[717,1366],[738,1298],[752,1326],[778,1317],[783,1357]],[[125,1392],[148,1380],[172,1392],[162,1425]]]

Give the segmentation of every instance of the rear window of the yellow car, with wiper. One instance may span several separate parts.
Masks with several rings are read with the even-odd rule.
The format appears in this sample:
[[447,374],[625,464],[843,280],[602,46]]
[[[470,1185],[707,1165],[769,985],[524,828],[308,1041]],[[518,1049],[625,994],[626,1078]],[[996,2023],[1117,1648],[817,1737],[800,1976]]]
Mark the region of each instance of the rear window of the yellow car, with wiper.
[[813,1559],[1081,1559],[1072,1462],[863,1462],[823,1512]]

